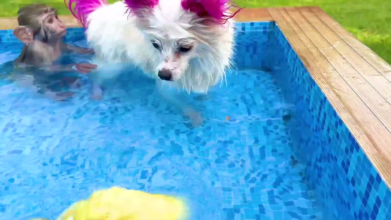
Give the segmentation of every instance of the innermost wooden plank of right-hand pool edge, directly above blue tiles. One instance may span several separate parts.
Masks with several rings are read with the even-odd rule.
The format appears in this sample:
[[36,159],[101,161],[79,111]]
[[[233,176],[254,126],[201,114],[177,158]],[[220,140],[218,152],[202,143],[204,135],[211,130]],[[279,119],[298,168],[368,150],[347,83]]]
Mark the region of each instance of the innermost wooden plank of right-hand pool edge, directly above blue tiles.
[[387,139],[391,134],[342,79],[341,75],[312,43],[312,39],[308,38],[287,11],[281,8],[268,9],[268,11],[303,61],[312,78],[359,142],[373,166],[379,171],[387,186],[391,187],[391,173],[387,171],[389,164],[391,164],[391,157],[390,152],[386,149],[391,145],[391,141]]

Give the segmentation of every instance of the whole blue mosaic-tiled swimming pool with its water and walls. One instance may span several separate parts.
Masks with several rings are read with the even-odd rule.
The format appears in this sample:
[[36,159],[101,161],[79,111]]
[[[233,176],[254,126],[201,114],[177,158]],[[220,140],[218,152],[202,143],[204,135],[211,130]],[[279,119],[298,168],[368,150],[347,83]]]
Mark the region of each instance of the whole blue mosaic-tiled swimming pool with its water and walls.
[[[20,45],[0,36],[12,60]],[[85,43],[81,29],[66,40]],[[194,220],[389,219],[389,189],[278,26],[239,23],[235,63],[192,96],[198,128],[146,78],[56,103],[2,76],[1,219],[55,219],[114,185],[184,196]]]

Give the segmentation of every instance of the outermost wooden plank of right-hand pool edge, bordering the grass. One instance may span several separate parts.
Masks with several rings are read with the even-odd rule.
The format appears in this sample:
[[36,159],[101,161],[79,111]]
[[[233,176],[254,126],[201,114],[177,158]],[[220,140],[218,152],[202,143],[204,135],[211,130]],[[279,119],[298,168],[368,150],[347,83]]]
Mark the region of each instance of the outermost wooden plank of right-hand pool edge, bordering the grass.
[[320,7],[311,7],[311,11],[319,17],[335,34],[344,40],[353,50],[355,50],[362,58],[364,58],[370,65],[383,74],[389,81],[391,81],[391,65],[380,58],[375,52],[364,45],[353,34],[346,31],[337,21],[330,15],[326,14]]

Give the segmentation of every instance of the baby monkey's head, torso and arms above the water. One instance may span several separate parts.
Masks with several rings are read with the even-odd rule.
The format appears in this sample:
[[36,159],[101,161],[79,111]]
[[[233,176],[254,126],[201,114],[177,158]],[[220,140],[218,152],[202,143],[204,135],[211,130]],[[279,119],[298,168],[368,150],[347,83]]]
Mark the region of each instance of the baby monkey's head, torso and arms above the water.
[[78,63],[55,64],[63,53],[79,54],[93,53],[92,50],[76,47],[63,42],[66,34],[64,23],[58,18],[57,10],[45,4],[32,4],[18,11],[18,24],[14,35],[24,43],[22,53],[16,59],[17,63],[46,67],[53,71],[91,72],[96,65]]

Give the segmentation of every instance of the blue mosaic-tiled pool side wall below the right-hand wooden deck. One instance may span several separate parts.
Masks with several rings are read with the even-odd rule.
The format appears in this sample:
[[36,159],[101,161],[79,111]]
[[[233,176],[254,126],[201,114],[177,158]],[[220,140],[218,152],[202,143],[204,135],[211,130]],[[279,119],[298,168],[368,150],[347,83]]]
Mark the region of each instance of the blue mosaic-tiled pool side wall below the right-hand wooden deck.
[[289,124],[300,143],[292,147],[325,219],[391,219],[391,191],[282,31],[276,25],[268,34],[264,57],[275,77],[286,79],[280,87],[296,107]]

